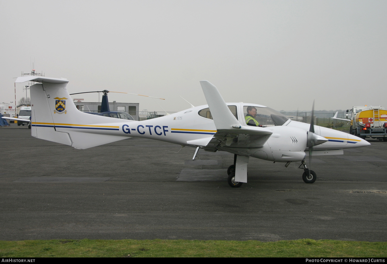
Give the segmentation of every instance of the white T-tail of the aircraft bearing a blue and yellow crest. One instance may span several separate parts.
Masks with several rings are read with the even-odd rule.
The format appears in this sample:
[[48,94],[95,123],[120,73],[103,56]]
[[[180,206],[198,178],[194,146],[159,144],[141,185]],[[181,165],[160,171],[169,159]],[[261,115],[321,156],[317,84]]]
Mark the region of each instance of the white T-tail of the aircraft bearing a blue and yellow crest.
[[30,87],[32,136],[79,149],[128,138],[104,133],[103,130],[119,130],[109,126],[109,123],[118,123],[113,118],[79,111],[67,91],[67,79],[24,76],[15,82],[27,81],[41,82]]

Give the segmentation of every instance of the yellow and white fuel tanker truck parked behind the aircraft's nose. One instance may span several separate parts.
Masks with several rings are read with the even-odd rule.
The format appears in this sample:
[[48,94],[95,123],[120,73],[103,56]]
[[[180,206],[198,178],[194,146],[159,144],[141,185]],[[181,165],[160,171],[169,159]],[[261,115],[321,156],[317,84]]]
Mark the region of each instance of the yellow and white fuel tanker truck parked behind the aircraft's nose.
[[365,139],[371,137],[387,141],[387,110],[382,106],[354,106],[348,109],[346,119],[337,118],[337,112],[332,119],[351,122],[349,133]]

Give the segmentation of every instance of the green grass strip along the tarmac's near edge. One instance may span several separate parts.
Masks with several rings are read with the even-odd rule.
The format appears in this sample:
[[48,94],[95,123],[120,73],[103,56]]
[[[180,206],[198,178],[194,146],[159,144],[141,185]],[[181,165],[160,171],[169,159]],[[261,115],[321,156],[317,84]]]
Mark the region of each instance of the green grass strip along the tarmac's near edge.
[[301,239],[0,241],[0,257],[387,257],[387,242]]

